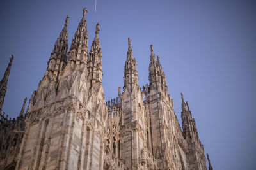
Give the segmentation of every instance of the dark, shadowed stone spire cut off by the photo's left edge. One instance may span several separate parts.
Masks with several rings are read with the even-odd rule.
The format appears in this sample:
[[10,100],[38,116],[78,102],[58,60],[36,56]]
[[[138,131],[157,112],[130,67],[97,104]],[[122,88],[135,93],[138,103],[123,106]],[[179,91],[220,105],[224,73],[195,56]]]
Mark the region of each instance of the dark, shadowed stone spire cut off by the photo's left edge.
[[4,76],[0,82],[0,113],[2,113],[2,106],[4,104],[4,97],[5,97],[6,89],[7,89],[8,77],[9,77],[11,67],[12,67],[12,60],[13,60],[13,55],[10,58],[8,67],[6,68]]

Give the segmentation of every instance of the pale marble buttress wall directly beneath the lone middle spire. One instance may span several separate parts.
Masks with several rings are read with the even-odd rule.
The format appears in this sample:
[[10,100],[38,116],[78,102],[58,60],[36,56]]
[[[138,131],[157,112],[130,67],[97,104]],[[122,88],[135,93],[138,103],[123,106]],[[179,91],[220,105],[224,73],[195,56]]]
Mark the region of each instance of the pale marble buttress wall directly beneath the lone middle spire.
[[129,169],[140,168],[141,150],[146,143],[143,101],[140,87],[124,90],[122,95],[121,158]]

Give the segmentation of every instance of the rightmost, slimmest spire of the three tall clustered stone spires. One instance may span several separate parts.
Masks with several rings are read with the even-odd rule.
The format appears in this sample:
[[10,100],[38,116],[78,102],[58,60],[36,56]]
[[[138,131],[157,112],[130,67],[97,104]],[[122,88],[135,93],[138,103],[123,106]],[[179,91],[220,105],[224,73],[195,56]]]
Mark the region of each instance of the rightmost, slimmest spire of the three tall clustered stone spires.
[[93,39],[92,47],[90,49],[87,60],[88,75],[91,81],[91,85],[96,82],[102,82],[102,52],[100,48],[99,31],[100,24],[97,23],[95,38]]

